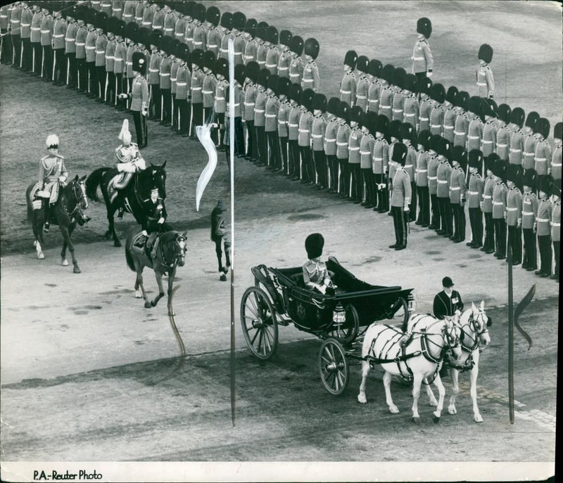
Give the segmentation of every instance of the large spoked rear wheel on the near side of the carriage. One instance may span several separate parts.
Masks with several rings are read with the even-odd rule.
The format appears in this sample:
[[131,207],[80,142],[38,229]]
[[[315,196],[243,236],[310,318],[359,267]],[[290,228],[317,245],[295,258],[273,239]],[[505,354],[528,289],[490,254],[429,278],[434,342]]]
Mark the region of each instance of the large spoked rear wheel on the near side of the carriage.
[[241,300],[241,326],[248,349],[258,359],[270,359],[277,349],[277,321],[264,290],[248,287]]

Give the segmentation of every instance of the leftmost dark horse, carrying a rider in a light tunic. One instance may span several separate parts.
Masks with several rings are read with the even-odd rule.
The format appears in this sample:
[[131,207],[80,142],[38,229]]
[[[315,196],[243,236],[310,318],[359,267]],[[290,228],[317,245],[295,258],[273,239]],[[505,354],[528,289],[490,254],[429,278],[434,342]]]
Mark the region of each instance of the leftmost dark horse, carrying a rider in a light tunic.
[[[70,183],[66,186],[61,186],[58,193],[58,200],[54,205],[54,209],[50,210],[49,223],[58,224],[63,233],[63,250],[61,251],[61,264],[68,265],[66,259],[66,247],[70,251],[72,257],[72,265],[74,265],[74,273],[80,273],[80,267],[75,258],[75,246],[70,240],[72,231],[75,229],[76,224],[81,226],[88,221],[88,218],[82,214],[82,210],[87,210],[88,200],[86,199],[86,189],[84,186],[84,179],[86,176],[79,178],[75,176]],[[31,183],[25,191],[25,199],[27,200],[27,220],[31,222],[33,228],[33,235],[35,237],[34,245],[37,251],[37,258],[44,259],[42,245],[43,245],[43,226],[45,224],[45,207],[44,204],[49,200],[32,200],[32,191],[37,183]]]

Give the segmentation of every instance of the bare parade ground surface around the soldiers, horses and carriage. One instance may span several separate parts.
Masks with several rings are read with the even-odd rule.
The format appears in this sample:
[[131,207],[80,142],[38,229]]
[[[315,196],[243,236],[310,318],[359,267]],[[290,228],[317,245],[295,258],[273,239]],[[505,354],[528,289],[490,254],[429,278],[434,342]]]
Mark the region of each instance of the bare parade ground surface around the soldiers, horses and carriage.
[[[472,93],[476,52],[488,41],[497,49],[495,100],[537,110],[552,126],[562,115],[561,10],[550,2],[353,1],[345,8],[336,1],[205,4],[239,9],[304,39],[315,36],[321,45],[321,91],[327,97],[337,94],[348,49],[384,64],[410,65],[416,20],[424,15],[434,25],[436,82]],[[362,8],[367,9],[363,15]],[[514,303],[534,284],[536,292],[520,317],[532,347],[515,335],[511,424],[504,260],[414,223],[407,249],[392,250],[393,220],[387,214],[242,159],[234,167],[233,425],[230,284],[219,280],[210,241],[210,212],[217,200],[230,201],[224,153],[196,212],[196,181],[208,162],[205,150],[170,128],[148,123],[142,154],[155,165],[166,162],[168,221],[178,231],[187,230],[186,263],[177,271],[175,285],[180,286],[173,300],[186,347],[179,359],[165,298],[145,309],[134,297],[135,277],[124,247],[103,237],[103,203],[89,200],[91,221],[72,236],[80,274],[72,273],[72,264],[61,266],[62,236],[56,226],[45,235],[45,259],[37,259],[25,218],[25,188],[37,178],[47,134],[60,137],[70,176],[83,176],[113,165],[127,113],[6,65],[0,65],[0,79],[2,461],[447,461],[548,467],[555,462],[559,283],[514,267]],[[122,243],[138,228],[130,214],[116,227]],[[457,415],[448,414],[452,385],[445,378],[440,423],[432,422],[434,408],[422,390],[422,422],[415,425],[412,387],[393,382],[400,413],[391,414],[377,368],[367,382],[369,404],[356,399],[360,366],[352,366],[340,397],[326,392],[317,368],[321,341],[293,326],[279,328],[280,345],[270,361],[248,352],[239,311],[244,290],[254,284],[251,267],[303,265],[305,237],[313,232],[324,236],[323,259],[336,257],[360,280],[414,288],[419,313],[432,311],[444,276],[453,279],[466,308],[484,301],[493,325],[491,345],[479,362],[483,423],[473,420],[467,374],[460,375]],[[470,236],[468,223],[467,241]],[[144,281],[149,296],[156,295],[150,269]],[[502,472],[495,479],[502,479]]]

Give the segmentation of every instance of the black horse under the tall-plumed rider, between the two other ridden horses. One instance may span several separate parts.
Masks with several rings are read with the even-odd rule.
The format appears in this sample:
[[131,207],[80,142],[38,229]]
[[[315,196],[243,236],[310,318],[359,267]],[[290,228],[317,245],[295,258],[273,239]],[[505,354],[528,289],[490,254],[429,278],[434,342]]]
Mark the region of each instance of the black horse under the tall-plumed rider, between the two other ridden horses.
[[88,198],[94,201],[100,201],[98,198],[98,187],[103,195],[108,210],[108,231],[106,238],[113,238],[113,246],[120,247],[117,233],[115,233],[115,225],[113,215],[119,208],[132,213],[139,225],[144,224],[146,213],[143,209],[143,201],[151,197],[151,190],[158,188],[158,194],[161,198],[166,198],[166,162],[161,166],[149,165],[146,169],[134,173],[132,179],[129,180],[125,188],[117,191],[117,195],[113,201],[110,200],[108,186],[110,181],[119,174],[116,168],[102,167],[92,172],[86,180],[86,194]]

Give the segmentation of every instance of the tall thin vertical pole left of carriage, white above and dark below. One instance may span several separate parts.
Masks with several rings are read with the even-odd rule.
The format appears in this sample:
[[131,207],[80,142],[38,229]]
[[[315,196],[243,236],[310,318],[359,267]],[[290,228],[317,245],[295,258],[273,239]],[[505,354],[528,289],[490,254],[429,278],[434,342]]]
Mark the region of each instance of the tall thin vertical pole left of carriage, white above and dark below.
[[235,408],[235,339],[234,339],[234,41],[229,39],[229,158],[231,162],[231,421],[234,426]]

